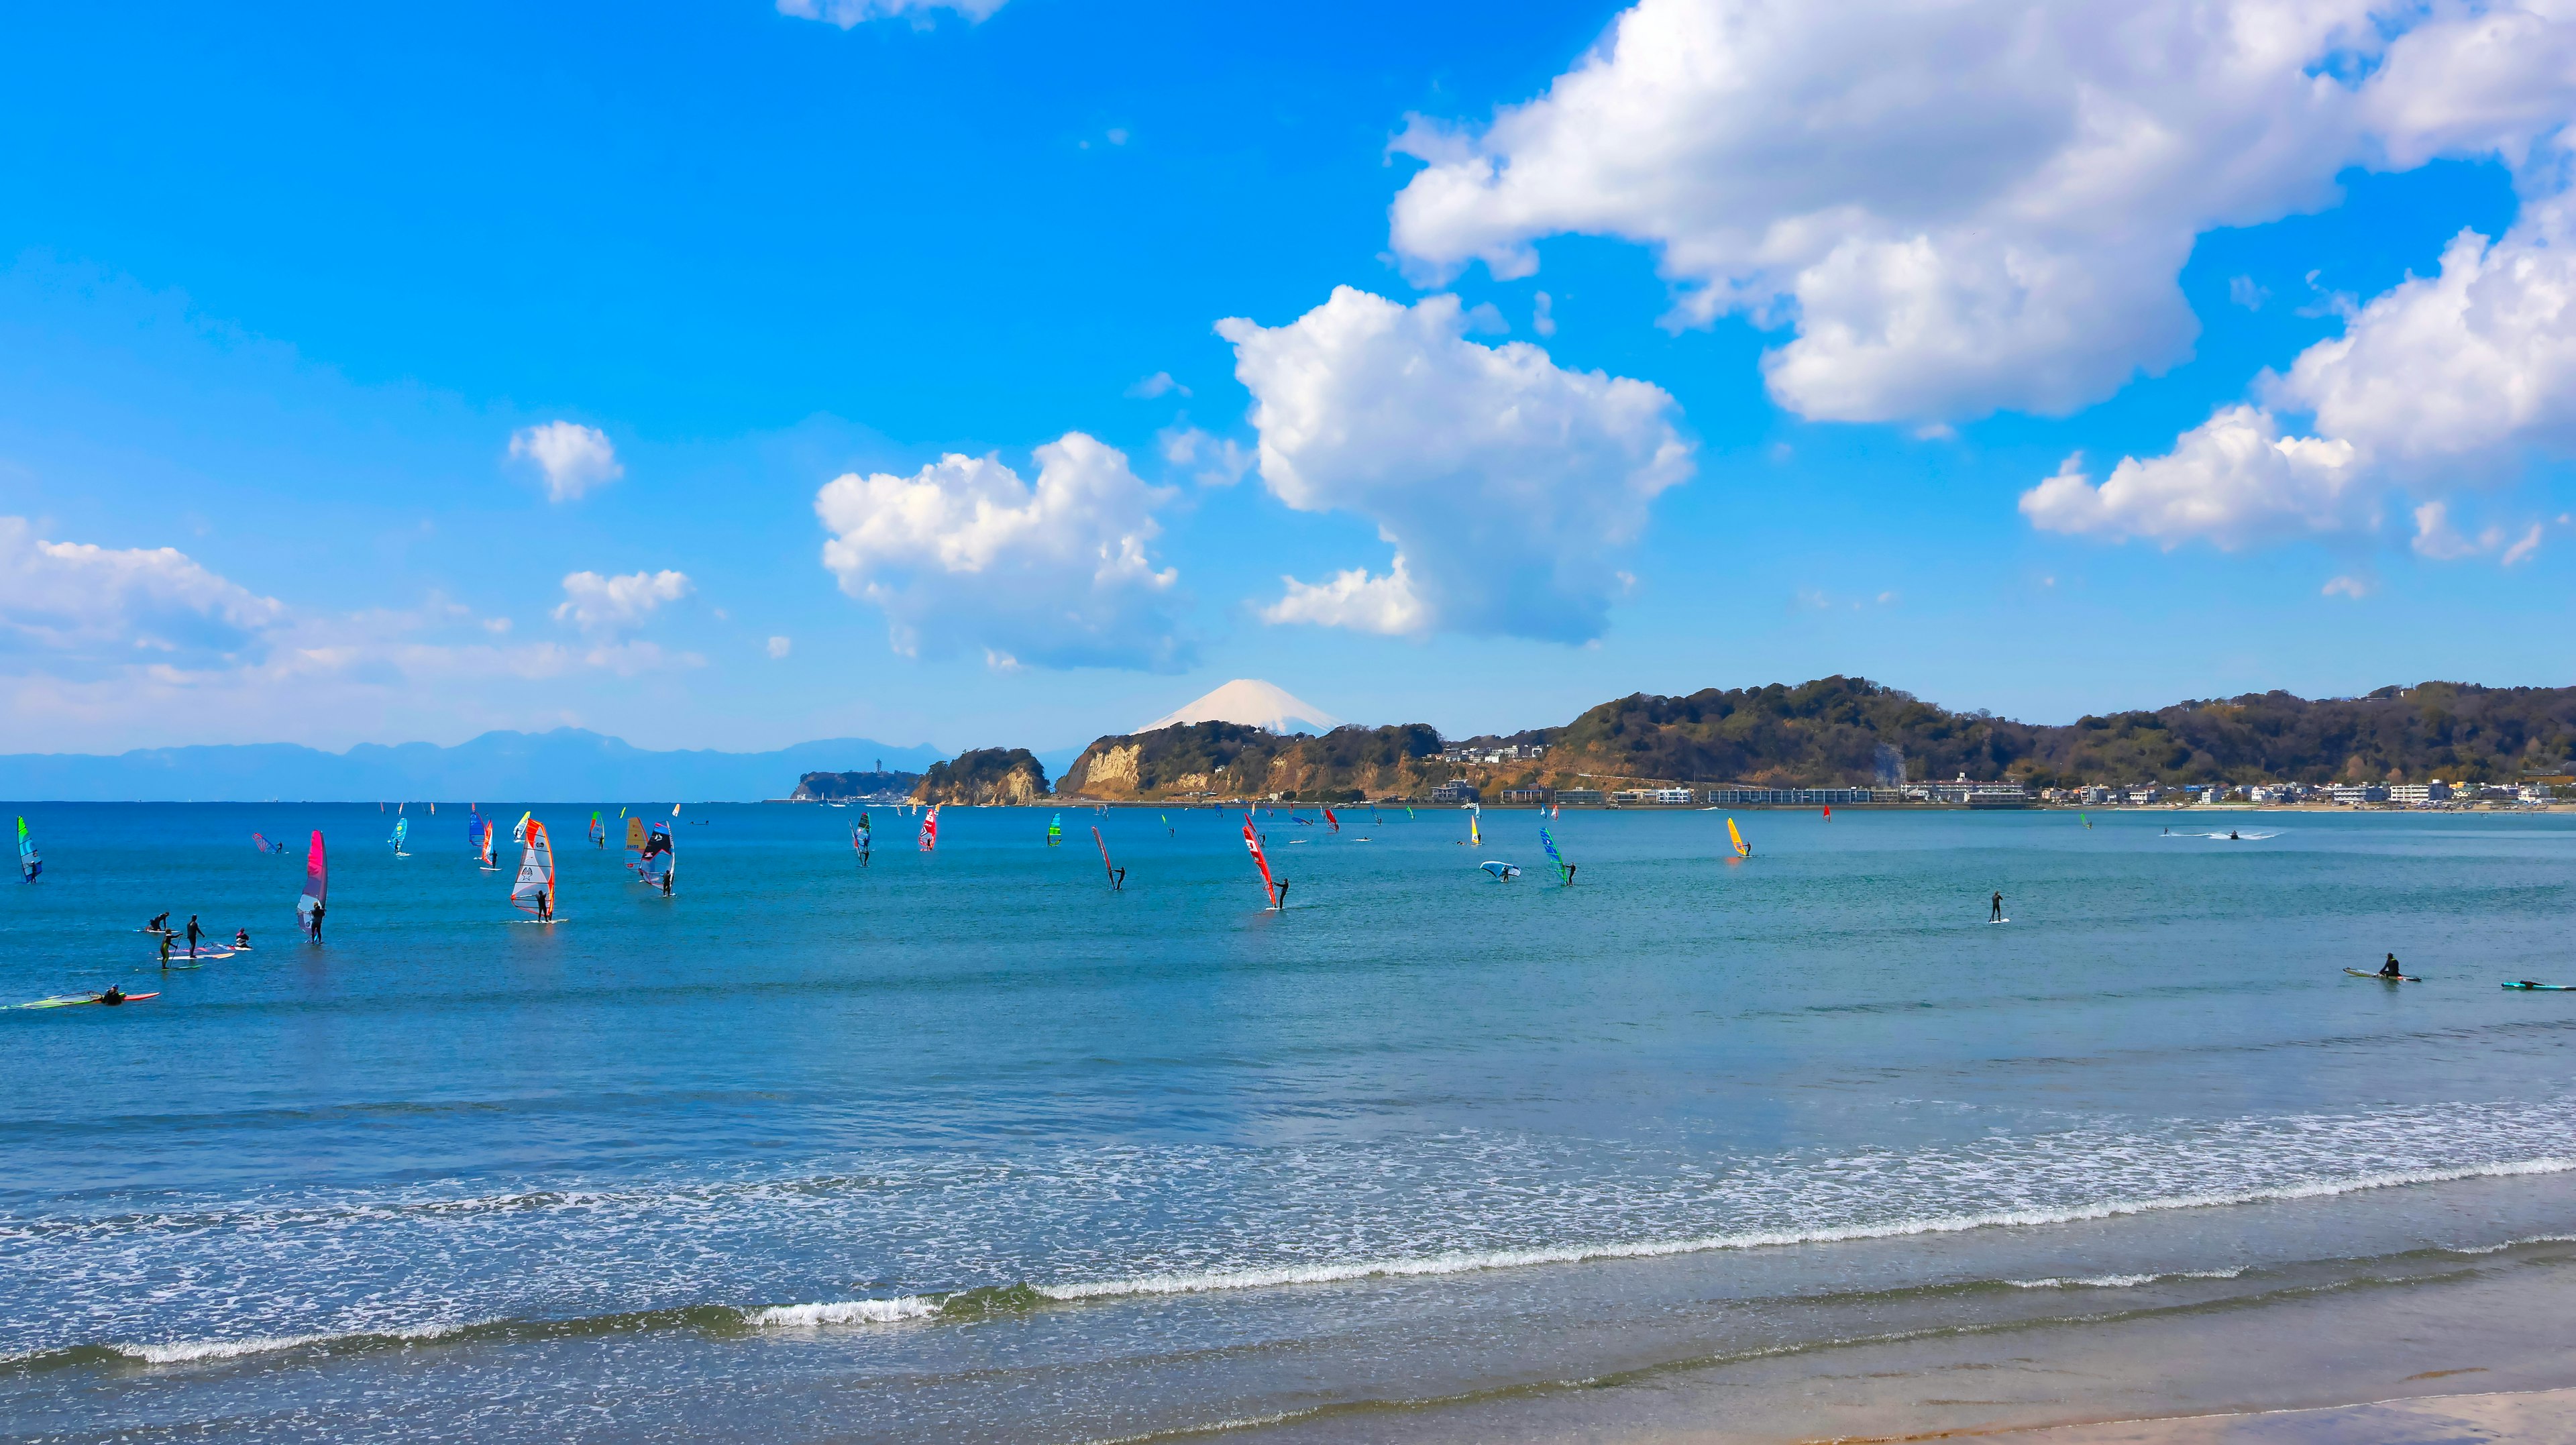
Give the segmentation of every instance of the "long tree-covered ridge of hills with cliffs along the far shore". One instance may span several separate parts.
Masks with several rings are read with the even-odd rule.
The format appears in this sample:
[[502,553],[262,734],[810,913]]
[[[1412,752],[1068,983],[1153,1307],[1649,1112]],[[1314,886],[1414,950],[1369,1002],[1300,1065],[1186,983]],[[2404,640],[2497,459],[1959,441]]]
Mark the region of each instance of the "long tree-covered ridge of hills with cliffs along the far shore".
[[[2035,788],[2076,783],[2514,780],[2566,773],[2576,688],[2419,683],[2362,698],[2246,693],[2156,711],[2022,724],[1950,711],[1868,677],[1631,693],[1566,726],[1450,747],[1543,744],[1535,760],[1443,760],[1425,724],[1267,734],[1203,721],[1092,742],[1059,796],[1131,801],[1188,793],[1345,801],[1481,788],[1618,783],[1865,786],[1965,773]],[[925,801],[940,801],[927,798]]]

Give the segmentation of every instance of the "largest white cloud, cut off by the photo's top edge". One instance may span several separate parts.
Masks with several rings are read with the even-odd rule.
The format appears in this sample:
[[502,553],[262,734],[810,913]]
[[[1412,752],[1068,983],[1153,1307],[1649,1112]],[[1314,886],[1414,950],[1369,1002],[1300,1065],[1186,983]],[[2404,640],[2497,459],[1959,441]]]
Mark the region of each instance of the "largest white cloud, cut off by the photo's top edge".
[[[1417,281],[1533,242],[1649,245],[1674,325],[1793,325],[1780,404],[2069,412],[2187,355],[2192,240],[2313,209],[2347,165],[2522,165],[2576,111],[2555,0],[1638,0],[1481,131],[1417,118]],[[2349,77],[2349,80],[2339,80]]]

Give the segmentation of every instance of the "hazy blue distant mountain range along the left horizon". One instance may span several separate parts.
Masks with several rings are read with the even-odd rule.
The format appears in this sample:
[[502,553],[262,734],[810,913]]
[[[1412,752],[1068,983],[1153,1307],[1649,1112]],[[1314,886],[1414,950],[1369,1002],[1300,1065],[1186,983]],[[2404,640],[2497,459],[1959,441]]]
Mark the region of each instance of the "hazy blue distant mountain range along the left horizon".
[[111,757],[82,752],[0,755],[10,801],[688,801],[783,798],[804,773],[878,765],[922,773],[938,747],[891,747],[866,737],[799,742],[778,752],[652,752],[577,726],[487,732],[456,747],[404,742],[322,752],[291,742],[144,747]]

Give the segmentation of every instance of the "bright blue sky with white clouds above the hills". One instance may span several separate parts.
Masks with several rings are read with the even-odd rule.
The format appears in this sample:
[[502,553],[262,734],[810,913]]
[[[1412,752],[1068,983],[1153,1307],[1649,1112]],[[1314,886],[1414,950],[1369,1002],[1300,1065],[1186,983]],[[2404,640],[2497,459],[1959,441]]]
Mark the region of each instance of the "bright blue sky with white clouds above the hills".
[[2571,683],[2568,0],[8,31],[0,752]]

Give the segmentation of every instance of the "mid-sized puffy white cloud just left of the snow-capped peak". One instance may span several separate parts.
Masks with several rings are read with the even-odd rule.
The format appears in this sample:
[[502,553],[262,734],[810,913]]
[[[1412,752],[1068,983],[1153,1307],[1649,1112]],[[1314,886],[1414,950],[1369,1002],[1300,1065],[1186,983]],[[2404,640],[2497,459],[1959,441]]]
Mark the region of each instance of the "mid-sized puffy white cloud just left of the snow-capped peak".
[[912,477],[848,474],[814,495],[840,590],[886,613],[902,654],[984,649],[1030,667],[1180,667],[1180,572],[1126,453],[1082,433],[1041,446],[1038,482],[992,456]]

